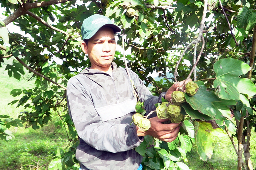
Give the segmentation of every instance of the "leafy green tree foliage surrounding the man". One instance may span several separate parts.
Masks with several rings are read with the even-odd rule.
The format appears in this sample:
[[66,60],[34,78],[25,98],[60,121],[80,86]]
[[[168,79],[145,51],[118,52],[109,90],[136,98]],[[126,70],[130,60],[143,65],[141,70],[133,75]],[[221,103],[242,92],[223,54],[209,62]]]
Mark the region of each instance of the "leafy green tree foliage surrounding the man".
[[[69,140],[74,146],[77,144],[77,134],[66,107],[66,83],[81,69],[90,66],[79,47],[82,21],[92,14],[102,14],[123,29],[117,34],[117,44],[130,51],[125,52],[128,67],[146,85],[152,85],[152,93],[156,95],[166,91],[176,81],[176,75],[177,81],[186,79],[198,59],[197,67],[192,71],[194,80],[202,80],[197,82],[200,89],[195,96],[186,96],[187,103],[182,105],[184,114],[188,114],[183,123],[186,135],[181,133],[177,140],[168,144],[146,139],[146,143],[141,144],[145,148],[137,148],[137,151],[146,155],[144,165],[147,169],[188,169],[179,161],[186,158],[194,140],[198,153],[206,161],[212,155],[213,148],[209,147],[212,141],[207,140],[203,144],[204,141],[198,139],[221,134],[216,133],[220,128],[216,130],[215,126],[226,132],[237,131],[234,135],[238,138],[238,169],[242,165],[252,169],[248,154],[245,154],[245,163],[242,163],[241,150],[242,144],[247,144],[243,150],[250,152],[250,131],[256,121],[255,1],[0,2],[2,9],[5,9],[2,15],[6,17],[0,21],[0,67],[5,67],[8,75],[18,80],[24,78],[24,69],[28,69],[33,73],[29,80],[36,79],[33,89],[12,90],[11,95],[20,95],[21,98],[10,104],[17,103],[25,111],[20,114],[19,120],[0,115],[2,139],[8,140],[10,135],[7,129],[21,126],[20,121],[25,127],[38,129],[51,120],[53,114],[57,114],[61,118],[57,123],[68,129]],[[29,36],[8,32],[6,26],[11,23]],[[122,56],[120,51],[116,52],[114,61],[119,66],[124,66]],[[13,60],[12,65],[5,65],[6,60]],[[164,81],[152,78],[153,72],[157,72]],[[28,108],[32,111],[26,111]],[[235,126],[227,126],[233,122],[236,122]],[[205,128],[209,133],[201,133]],[[148,147],[150,143],[155,147]],[[64,164],[71,167],[74,152],[75,147],[67,153],[59,149],[49,169],[63,169]]]

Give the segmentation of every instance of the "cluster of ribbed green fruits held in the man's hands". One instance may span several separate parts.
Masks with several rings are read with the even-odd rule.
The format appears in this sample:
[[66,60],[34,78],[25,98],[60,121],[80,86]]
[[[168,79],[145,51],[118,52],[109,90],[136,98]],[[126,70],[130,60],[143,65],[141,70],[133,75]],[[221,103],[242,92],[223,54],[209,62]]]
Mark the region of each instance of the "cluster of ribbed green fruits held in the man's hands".
[[[190,81],[186,84],[185,90],[186,94],[189,96],[194,96],[199,89],[197,83]],[[184,92],[174,91],[172,92],[171,102],[163,102],[156,108],[157,117],[159,119],[169,119],[172,123],[179,123],[183,120],[183,114],[181,114],[180,105],[186,101]],[[136,113],[132,117],[134,125],[147,131],[150,128],[150,121],[139,113]]]

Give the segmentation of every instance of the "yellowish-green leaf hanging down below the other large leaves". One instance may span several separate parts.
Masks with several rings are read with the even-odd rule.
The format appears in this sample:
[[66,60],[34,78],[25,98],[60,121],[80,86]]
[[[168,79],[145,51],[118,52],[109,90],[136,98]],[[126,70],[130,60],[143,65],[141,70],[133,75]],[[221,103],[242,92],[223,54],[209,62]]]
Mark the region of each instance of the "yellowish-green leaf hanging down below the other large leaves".
[[211,158],[213,154],[213,136],[223,137],[226,134],[224,134],[224,131],[221,128],[217,128],[217,126],[212,125],[212,123],[197,121],[195,121],[194,123],[195,144],[198,147],[198,153],[203,161],[207,161],[207,158]]

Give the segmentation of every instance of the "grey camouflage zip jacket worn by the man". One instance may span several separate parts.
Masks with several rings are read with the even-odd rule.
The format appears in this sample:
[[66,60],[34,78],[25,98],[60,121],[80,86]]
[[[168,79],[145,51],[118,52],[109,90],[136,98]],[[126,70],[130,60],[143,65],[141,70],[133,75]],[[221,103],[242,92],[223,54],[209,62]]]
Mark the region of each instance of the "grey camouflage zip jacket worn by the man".
[[[142,161],[134,147],[140,145],[136,126],[131,123],[136,100],[124,68],[112,63],[112,76],[84,69],[67,83],[69,114],[79,136],[76,159],[85,170],[137,170]],[[155,110],[162,96],[152,96],[130,70],[140,101]]]

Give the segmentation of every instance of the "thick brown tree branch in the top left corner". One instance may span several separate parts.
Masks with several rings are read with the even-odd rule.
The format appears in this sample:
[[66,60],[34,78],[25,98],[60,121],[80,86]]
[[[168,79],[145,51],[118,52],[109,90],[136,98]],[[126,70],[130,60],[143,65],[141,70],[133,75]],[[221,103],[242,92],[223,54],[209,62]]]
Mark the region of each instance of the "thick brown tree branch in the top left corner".
[[5,18],[5,20],[3,20],[3,22],[7,26],[9,23],[13,22],[21,15],[26,14],[26,12],[29,9],[43,7],[43,6],[49,6],[49,5],[55,5],[58,3],[65,3],[67,1],[72,1],[72,0],[50,0],[50,1],[43,1],[43,2],[35,2],[35,3],[24,3],[23,6],[20,6],[20,8],[18,8],[14,13],[12,13],[9,17]]

